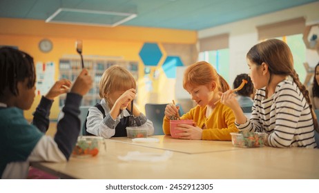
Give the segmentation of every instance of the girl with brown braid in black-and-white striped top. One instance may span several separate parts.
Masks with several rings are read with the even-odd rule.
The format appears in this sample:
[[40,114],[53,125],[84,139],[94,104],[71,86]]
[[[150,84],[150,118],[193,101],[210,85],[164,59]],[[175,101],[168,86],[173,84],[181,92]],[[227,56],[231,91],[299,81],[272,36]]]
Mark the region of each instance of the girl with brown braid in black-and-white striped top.
[[244,116],[231,90],[221,94],[221,102],[235,114],[238,129],[266,132],[269,146],[315,148],[316,116],[305,86],[293,69],[293,56],[286,43],[269,39],[254,45],[247,63],[255,94],[250,120]]

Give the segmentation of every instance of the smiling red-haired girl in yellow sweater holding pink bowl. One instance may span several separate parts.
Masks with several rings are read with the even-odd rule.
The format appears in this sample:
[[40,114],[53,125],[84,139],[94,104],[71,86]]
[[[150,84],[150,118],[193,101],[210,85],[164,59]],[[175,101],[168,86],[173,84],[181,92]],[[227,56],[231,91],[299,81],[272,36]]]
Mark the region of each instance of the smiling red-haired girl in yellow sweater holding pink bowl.
[[[195,126],[179,124],[180,139],[203,139],[231,141],[231,132],[238,132],[232,110],[216,103],[220,99],[218,92],[229,89],[229,84],[205,61],[190,65],[184,72],[184,89],[191,94],[197,106],[180,117],[191,119]],[[216,104],[215,104],[216,103]],[[178,109],[173,104],[166,105],[163,121],[164,134],[170,134],[170,118]]]

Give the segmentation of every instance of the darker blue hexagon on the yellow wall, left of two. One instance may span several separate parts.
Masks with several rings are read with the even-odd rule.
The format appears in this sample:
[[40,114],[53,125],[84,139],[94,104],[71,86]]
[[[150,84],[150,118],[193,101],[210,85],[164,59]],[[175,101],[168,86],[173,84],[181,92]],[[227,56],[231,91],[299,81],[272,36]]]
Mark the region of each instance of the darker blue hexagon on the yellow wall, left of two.
[[157,43],[144,43],[143,48],[139,51],[144,65],[156,66],[162,58],[162,52]]

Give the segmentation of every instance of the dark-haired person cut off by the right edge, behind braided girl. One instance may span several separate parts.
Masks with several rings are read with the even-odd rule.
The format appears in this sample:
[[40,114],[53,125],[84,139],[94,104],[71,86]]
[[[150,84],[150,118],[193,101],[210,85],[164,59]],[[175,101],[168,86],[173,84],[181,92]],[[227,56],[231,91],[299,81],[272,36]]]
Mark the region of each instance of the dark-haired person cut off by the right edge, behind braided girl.
[[315,67],[315,76],[309,90],[309,96],[313,110],[319,109],[319,63]]

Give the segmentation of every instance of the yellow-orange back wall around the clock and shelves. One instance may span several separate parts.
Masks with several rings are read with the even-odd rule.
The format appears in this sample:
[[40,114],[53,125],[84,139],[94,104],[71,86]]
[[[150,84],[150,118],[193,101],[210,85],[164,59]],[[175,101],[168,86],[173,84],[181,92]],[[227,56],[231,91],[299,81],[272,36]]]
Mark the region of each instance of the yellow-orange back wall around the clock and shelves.
[[[48,38],[53,43],[51,52],[43,53],[38,48],[41,39]],[[144,111],[144,104],[150,94],[144,91],[144,64],[139,58],[139,51],[146,42],[158,43],[163,57],[166,53],[161,43],[194,44],[197,41],[197,32],[187,30],[169,30],[160,28],[138,28],[118,26],[115,28],[96,26],[75,26],[64,24],[44,23],[37,20],[4,19],[0,18],[0,45],[18,46],[20,50],[28,52],[35,60],[55,63],[55,78],[59,77],[59,59],[64,54],[77,54],[75,41],[83,41],[83,54],[98,56],[124,57],[126,60],[139,61],[139,93],[138,101],[140,110]],[[160,70],[162,71],[162,70]],[[163,72],[161,72],[163,75]],[[164,79],[164,76],[161,76]],[[156,88],[155,92],[161,92]],[[165,90],[167,92],[167,90]],[[173,92],[173,90],[171,91]],[[164,94],[165,95],[165,94]],[[167,95],[167,94],[166,94]],[[162,97],[162,96],[161,96]],[[171,99],[171,96],[169,96]],[[40,97],[37,96],[32,108],[25,112],[26,119],[32,119]],[[167,99],[169,100],[169,99]],[[58,99],[53,103],[50,119],[57,119],[59,113]]]

